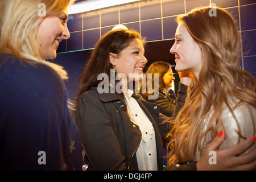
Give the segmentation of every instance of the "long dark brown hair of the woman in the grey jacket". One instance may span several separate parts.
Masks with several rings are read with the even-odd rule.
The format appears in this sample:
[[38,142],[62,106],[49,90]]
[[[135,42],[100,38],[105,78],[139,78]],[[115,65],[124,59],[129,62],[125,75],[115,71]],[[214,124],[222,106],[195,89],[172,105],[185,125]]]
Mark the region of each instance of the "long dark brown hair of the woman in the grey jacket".
[[[88,64],[81,73],[79,88],[75,97],[75,106],[77,106],[77,102],[82,93],[100,84],[101,80],[98,80],[100,73],[106,73],[110,79],[110,69],[112,69],[113,66],[109,61],[109,53],[119,55],[134,39],[139,39],[144,42],[144,39],[137,31],[117,29],[109,31],[98,40],[90,55]],[[75,114],[76,110],[74,110],[73,116],[75,116]]]

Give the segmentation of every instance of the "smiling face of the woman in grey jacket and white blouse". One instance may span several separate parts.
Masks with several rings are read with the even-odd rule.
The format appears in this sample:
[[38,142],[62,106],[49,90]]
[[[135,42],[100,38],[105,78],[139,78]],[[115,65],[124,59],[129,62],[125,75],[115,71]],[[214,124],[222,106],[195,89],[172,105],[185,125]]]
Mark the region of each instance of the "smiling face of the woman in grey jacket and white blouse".
[[125,74],[127,83],[129,81],[142,79],[142,73],[147,59],[144,57],[144,47],[141,40],[132,40],[129,46],[119,53],[119,56],[110,53],[109,59],[118,74]]

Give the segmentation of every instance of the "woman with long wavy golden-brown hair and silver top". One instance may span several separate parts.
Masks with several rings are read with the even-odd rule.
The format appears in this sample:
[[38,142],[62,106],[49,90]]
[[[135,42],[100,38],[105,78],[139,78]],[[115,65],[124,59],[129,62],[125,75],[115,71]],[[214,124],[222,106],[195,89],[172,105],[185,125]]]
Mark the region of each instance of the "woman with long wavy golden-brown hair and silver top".
[[[177,18],[170,52],[175,54],[176,71],[191,71],[194,77],[169,134],[170,164],[198,161],[218,133],[225,134],[218,150],[256,135],[255,84],[253,76],[238,67],[240,35],[229,13],[216,8],[217,16],[209,16],[211,9],[195,9]],[[254,147],[244,153],[255,153]],[[247,169],[255,169],[253,160]]]

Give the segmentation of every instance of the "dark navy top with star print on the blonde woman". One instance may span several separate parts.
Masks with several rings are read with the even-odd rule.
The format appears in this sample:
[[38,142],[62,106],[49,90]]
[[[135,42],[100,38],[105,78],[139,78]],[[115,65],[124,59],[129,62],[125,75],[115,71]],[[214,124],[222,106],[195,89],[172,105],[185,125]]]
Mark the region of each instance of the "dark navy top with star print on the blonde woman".
[[64,81],[48,65],[31,63],[0,56],[0,170],[81,170]]

